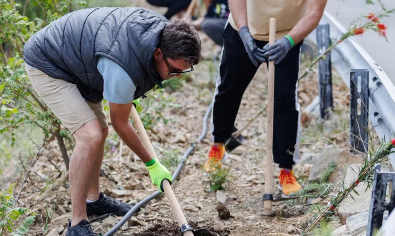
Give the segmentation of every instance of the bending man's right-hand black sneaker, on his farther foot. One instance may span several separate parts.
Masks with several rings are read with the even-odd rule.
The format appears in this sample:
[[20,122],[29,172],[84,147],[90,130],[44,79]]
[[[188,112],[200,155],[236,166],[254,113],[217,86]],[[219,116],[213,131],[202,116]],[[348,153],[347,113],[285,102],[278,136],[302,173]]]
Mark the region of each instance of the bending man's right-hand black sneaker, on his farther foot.
[[117,217],[123,217],[132,206],[107,196],[100,192],[99,199],[93,203],[86,204],[86,213],[91,215],[115,214]]

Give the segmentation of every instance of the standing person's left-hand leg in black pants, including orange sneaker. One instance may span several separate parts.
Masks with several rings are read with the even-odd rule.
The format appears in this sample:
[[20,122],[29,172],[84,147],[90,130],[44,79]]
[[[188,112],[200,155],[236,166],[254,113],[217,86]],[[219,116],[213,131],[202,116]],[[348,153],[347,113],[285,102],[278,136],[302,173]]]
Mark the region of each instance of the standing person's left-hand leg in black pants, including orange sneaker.
[[221,168],[221,162],[226,158],[224,142],[232,133],[244,91],[258,70],[250,61],[238,31],[227,24],[223,38],[224,47],[210,124],[213,144],[205,164],[206,172]]

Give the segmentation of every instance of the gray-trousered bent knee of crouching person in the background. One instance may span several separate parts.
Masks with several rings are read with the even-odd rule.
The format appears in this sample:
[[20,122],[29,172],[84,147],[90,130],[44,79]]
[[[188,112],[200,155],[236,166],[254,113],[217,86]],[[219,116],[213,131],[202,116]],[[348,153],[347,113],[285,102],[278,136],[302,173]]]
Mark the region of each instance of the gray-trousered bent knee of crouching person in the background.
[[211,18],[205,17],[200,25],[203,32],[205,32],[216,45],[223,46],[225,25],[228,19],[226,18]]

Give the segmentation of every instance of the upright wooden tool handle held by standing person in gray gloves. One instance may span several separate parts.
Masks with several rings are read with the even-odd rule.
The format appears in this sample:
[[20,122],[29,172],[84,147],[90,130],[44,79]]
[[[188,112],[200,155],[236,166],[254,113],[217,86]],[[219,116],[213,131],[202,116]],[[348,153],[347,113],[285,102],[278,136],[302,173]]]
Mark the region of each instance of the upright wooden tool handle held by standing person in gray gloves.
[[[270,18],[269,22],[269,45],[275,41],[275,18]],[[269,62],[268,80],[268,106],[267,106],[267,128],[266,128],[266,180],[265,193],[271,194],[272,182],[272,159],[273,159],[273,110],[274,110],[274,62]],[[265,210],[271,210],[271,200],[263,202]]]

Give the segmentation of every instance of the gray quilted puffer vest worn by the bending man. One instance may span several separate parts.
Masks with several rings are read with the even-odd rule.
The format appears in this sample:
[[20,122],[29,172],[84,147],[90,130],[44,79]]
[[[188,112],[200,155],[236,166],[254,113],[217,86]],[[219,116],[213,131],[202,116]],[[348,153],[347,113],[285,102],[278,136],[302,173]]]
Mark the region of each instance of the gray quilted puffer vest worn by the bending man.
[[137,99],[162,86],[153,52],[168,24],[164,16],[144,8],[73,11],[32,35],[23,56],[49,76],[76,84],[92,103],[103,100],[103,77],[96,64],[98,56],[105,56],[132,78]]

